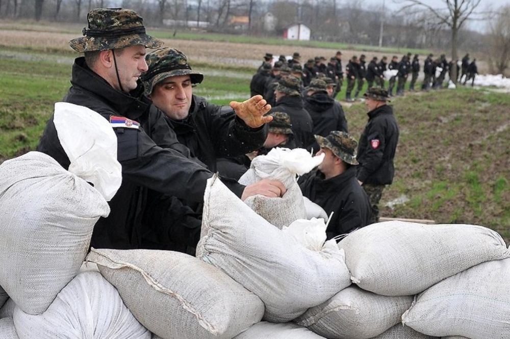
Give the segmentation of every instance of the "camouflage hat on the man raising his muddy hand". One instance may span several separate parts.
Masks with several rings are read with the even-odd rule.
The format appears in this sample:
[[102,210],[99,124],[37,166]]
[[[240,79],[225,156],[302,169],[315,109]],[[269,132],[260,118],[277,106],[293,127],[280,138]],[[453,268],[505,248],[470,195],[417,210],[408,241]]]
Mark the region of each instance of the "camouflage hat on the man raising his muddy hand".
[[145,61],[148,69],[141,76],[145,95],[151,94],[159,82],[171,76],[189,75],[192,84],[203,80],[203,74],[191,70],[186,54],[179,49],[170,47],[157,49],[145,55]]

